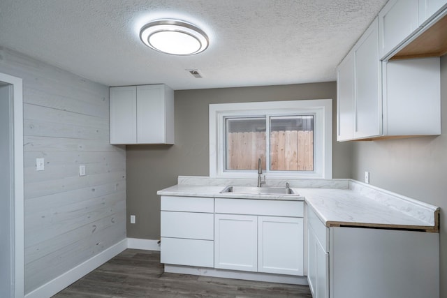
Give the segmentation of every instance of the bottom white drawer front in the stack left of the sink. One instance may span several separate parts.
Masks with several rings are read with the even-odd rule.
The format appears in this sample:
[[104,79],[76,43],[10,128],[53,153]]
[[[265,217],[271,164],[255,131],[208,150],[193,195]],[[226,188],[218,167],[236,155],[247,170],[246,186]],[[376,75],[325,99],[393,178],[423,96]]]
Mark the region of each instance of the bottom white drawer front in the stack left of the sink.
[[214,241],[161,237],[163,264],[213,267]]

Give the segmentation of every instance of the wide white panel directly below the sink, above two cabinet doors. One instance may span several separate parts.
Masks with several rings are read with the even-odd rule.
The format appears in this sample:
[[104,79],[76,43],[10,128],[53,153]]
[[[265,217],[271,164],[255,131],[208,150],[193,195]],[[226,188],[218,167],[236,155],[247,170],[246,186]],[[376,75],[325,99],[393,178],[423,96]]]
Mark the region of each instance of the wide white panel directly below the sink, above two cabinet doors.
[[216,199],[216,213],[303,217],[304,202],[280,200]]

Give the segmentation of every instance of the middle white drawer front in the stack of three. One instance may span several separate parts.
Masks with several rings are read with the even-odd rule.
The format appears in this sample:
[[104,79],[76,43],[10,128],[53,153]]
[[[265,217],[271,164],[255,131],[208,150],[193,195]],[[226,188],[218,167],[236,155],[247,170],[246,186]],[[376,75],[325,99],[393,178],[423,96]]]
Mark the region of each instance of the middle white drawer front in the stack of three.
[[161,237],[214,239],[214,214],[161,211]]

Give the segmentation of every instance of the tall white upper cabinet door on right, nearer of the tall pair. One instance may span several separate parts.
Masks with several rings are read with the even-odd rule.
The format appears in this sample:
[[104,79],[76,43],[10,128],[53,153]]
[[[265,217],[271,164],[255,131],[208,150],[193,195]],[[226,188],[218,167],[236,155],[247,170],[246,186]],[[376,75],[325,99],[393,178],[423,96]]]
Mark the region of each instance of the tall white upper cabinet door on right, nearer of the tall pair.
[[358,40],[354,47],[354,56],[356,59],[354,138],[381,135],[381,63],[377,19]]

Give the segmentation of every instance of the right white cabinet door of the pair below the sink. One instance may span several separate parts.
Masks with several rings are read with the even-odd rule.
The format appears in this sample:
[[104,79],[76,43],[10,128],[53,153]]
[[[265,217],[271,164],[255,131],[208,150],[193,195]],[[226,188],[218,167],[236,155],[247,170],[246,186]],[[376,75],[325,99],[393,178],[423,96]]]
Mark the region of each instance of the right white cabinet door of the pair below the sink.
[[258,271],[304,275],[303,219],[258,216]]

